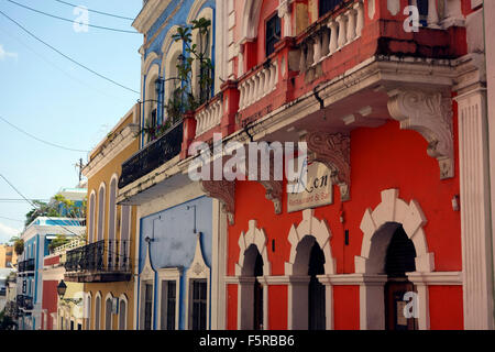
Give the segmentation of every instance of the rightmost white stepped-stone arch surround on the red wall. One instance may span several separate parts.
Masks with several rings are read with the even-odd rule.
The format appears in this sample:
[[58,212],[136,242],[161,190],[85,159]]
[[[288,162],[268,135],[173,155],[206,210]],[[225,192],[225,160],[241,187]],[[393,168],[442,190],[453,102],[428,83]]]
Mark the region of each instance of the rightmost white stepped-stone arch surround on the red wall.
[[[371,208],[367,208],[364,212],[360,226],[364,235],[361,255],[356,255],[354,258],[355,272],[383,274],[385,251],[389,239],[386,235],[381,235],[382,231],[380,230],[384,229],[387,223],[402,224],[407,237],[415,244],[416,272],[433,272],[433,253],[428,252],[428,243],[422,229],[427,219],[416,200],[411,200],[408,205],[398,198],[398,189],[383,190],[382,202],[375,210],[372,211]],[[372,242],[373,240],[375,241]]]

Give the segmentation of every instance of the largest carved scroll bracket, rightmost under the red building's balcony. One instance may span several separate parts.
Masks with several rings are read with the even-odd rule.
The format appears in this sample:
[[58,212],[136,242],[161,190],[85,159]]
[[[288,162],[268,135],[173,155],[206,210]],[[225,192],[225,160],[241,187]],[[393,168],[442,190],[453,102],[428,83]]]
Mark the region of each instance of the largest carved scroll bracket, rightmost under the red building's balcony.
[[440,166],[440,179],[454,176],[452,99],[441,91],[417,89],[389,92],[388,111],[404,130],[419,132],[428,141],[428,155]]

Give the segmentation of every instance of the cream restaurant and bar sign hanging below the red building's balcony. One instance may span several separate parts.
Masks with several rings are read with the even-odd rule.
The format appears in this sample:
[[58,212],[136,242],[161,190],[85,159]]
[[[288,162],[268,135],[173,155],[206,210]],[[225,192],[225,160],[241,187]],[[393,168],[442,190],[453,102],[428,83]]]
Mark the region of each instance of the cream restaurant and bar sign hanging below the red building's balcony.
[[287,191],[287,212],[322,207],[333,202],[331,170],[321,163],[309,164],[307,168],[306,183],[299,179],[289,184],[293,193]]

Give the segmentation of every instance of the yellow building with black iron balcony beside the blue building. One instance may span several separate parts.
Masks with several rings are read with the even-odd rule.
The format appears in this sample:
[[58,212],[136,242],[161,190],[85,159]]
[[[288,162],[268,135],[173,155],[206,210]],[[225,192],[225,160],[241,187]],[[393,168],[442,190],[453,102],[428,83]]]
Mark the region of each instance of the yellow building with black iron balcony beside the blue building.
[[84,283],[85,330],[132,330],[136,212],[117,205],[122,164],[139,151],[135,105],[90,153],[87,245],[67,252],[66,282]]

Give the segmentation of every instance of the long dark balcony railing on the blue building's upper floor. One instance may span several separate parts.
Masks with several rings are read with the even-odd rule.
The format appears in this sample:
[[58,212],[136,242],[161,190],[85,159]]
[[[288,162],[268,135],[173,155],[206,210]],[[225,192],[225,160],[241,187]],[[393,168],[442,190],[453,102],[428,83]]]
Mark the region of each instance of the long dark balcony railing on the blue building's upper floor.
[[179,121],[122,164],[119,188],[132,184],[174,158],[180,153],[182,143],[183,122]]

